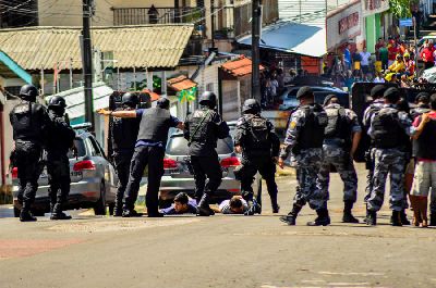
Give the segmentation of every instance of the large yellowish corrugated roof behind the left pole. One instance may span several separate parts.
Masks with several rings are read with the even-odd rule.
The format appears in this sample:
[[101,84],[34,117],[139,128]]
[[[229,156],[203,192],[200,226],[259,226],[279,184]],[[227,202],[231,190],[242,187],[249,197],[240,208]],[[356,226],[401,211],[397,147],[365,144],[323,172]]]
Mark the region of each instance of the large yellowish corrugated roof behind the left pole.
[[[144,25],[92,29],[92,42],[101,52],[113,51],[116,67],[171,68],[179,64],[194,26]],[[25,70],[82,68],[80,27],[28,27],[0,30],[0,49]]]

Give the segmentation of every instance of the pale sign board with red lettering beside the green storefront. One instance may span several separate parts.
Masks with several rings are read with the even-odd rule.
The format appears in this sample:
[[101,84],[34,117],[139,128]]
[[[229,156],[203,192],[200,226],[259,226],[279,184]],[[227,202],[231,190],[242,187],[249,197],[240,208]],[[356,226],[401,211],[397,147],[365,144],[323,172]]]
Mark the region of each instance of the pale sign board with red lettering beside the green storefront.
[[361,1],[338,9],[327,15],[327,50],[362,34]]

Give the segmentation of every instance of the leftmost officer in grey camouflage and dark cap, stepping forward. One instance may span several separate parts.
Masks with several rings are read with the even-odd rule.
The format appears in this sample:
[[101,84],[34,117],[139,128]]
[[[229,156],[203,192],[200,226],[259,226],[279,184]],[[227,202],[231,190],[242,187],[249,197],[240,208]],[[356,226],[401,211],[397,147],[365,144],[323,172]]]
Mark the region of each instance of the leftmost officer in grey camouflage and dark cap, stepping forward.
[[284,160],[292,152],[291,161],[296,168],[296,193],[292,211],[280,217],[280,221],[295,225],[301,209],[308,202],[316,210],[318,217],[308,222],[308,226],[326,226],[330,224],[327,210],[327,195],[316,188],[316,177],[323,163],[324,129],[327,126],[327,114],[315,103],[315,96],[307,86],[301,87],[296,93],[300,107],[291,115],[284,147],[280,153],[279,165],[284,166]]

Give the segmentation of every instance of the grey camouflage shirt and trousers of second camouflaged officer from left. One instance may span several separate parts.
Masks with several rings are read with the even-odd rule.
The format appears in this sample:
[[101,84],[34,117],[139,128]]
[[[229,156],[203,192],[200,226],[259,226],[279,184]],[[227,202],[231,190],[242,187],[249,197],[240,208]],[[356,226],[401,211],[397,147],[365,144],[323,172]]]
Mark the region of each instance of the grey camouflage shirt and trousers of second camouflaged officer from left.
[[[340,109],[339,104],[330,104],[325,109]],[[348,127],[350,128],[349,135],[351,142],[352,134],[362,132],[359,124],[358,115],[344,109]],[[330,165],[335,166],[339,176],[343,181],[343,201],[355,202],[358,199],[358,175],[355,173],[353,161],[350,156],[350,146],[347,146],[346,139],[332,138],[325,139],[323,145],[324,161],[320,166],[317,177],[317,189],[322,190],[323,195],[328,196],[328,185],[330,180]]]

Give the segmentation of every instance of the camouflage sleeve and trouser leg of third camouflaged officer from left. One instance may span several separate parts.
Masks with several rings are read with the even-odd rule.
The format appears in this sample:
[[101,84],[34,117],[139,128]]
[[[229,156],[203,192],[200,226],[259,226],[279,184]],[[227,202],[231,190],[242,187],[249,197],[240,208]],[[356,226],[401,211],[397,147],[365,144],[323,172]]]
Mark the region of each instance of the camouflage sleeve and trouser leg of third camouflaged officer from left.
[[[363,127],[366,132],[370,129],[371,118],[377,111],[379,111],[383,108],[384,104],[385,104],[384,99],[376,99],[368,108],[366,108],[362,121]],[[375,166],[375,149],[373,147],[370,147],[366,160],[366,168],[368,171],[368,174],[366,175],[365,197],[363,198],[363,201],[365,203],[370,199],[371,191],[373,190],[374,166]]]

